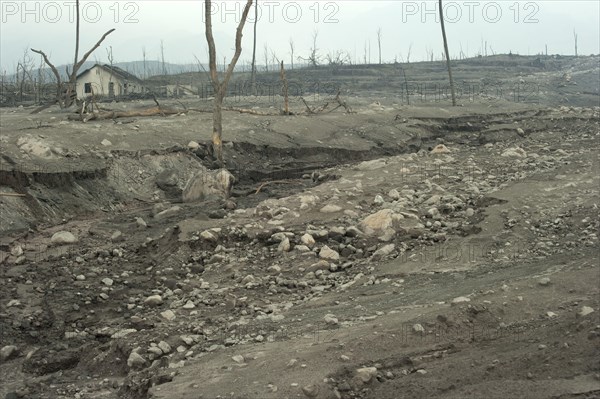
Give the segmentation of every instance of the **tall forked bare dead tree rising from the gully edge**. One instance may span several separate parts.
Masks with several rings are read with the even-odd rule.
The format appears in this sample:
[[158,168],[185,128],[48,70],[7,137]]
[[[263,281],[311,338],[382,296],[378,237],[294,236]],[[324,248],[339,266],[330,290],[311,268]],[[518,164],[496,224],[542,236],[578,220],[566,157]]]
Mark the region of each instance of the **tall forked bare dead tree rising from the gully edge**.
[[252,6],[253,0],[247,0],[246,6],[244,7],[244,11],[242,12],[242,18],[240,23],[238,24],[236,35],[235,35],[235,53],[233,54],[233,58],[231,59],[231,63],[223,76],[223,80],[219,80],[219,74],[217,72],[217,50],[215,47],[215,39],[212,33],[212,15],[211,15],[211,1],[205,1],[205,14],[206,14],[206,41],[208,42],[208,56],[209,56],[209,70],[210,70],[210,78],[213,85],[213,89],[215,92],[215,99],[213,105],[213,133],[212,133],[212,148],[213,155],[216,155],[217,160],[223,166],[223,141],[221,140],[223,133],[223,118],[222,118],[222,108],[223,108],[223,99],[227,94],[227,85],[229,84],[229,80],[231,79],[231,75],[233,74],[233,69],[235,68],[235,64],[240,58],[240,54],[242,53],[242,31],[244,29],[244,25],[246,23],[246,18],[248,18],[248,12],[250,11],[250,7]]

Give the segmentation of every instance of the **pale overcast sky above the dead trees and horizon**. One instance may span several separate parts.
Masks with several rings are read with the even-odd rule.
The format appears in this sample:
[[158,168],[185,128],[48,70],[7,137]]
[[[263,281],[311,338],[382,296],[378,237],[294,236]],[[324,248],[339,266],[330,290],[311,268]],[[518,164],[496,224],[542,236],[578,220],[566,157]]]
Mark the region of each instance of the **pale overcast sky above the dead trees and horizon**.
[[[231,58],[235,26],[244,3],[214,1],[213,29],[217,52]],[[1,68],[14,71],[27,48],[42,49],[57,64],[72,62],[74,51],[74,1],[0,0]],[[578,35],[579,54],[600,53],[600,2],[595,0],[551,1],[449,1],[444,0],[446,30],[452,57],[474,56],[487,42],[492,52],[519,54],[573,54],[573,30]],[[363,62],[365,45],[370,61],[378,61],[377,29],[382,32],[384,62],[418,61],[433,51],[443,51],[437,1],[266,1],[260,0],[257,57],[264,64],[264,46],[286,63],[290,60],[290,38],[295,56],[306,56],[312,34],[318,31],[321,55],[344,51],[353,61]],[[207,58],[204,36],[203,1],[81,1],[82,27],[80,54],[111,28],[116,31],[96,50],[90,60],[107,62],[112,46],[114,62],[160,57],[164,42],[165,59],[173,63],[193,63],[194,55]],[[244,29],[240,62],[252,57],[252,22]],[[483,46],[482,46],[483,43]],[[271,55],[269,55],[271,59]],[[35,58],[38,60],[38,57]]]

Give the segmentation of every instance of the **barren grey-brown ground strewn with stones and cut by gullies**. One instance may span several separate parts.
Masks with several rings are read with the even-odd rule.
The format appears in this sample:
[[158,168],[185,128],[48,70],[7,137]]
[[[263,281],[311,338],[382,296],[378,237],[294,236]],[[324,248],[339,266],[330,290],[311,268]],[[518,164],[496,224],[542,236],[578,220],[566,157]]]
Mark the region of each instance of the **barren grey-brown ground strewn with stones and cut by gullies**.
[[1,108],[0,396],[600,397],[598,57],[484,61],[231,97],[192,199],[210,101]]

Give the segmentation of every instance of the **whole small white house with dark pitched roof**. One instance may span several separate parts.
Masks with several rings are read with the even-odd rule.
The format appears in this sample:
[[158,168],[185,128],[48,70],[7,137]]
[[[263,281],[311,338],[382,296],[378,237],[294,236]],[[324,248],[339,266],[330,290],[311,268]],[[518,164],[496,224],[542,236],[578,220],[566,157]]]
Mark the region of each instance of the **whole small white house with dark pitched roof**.
[[143,82],[137,76],[115,66],[96,64],[77,75],[77,98],[114,98],[143,92]]

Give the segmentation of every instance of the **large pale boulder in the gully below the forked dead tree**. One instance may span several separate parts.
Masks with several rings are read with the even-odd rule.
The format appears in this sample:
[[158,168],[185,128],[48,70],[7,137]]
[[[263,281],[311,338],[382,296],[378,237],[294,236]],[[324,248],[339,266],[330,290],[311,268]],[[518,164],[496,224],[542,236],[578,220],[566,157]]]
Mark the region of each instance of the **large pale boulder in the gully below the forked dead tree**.
[[234,182],[235,177],[226,169],[210,171],[203,168],[187,182],[182,193],[183,202],[227,199]]

